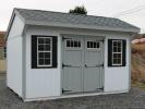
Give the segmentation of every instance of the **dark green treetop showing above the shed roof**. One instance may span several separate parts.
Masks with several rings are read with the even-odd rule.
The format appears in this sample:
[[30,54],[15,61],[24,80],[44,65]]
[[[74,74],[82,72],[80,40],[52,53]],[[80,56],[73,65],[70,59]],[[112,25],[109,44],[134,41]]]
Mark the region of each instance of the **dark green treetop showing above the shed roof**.
[[75,14],[87,14],[87,11],[84,5],[75,7],[73,10],[70,10],[69,13],[75,13]]

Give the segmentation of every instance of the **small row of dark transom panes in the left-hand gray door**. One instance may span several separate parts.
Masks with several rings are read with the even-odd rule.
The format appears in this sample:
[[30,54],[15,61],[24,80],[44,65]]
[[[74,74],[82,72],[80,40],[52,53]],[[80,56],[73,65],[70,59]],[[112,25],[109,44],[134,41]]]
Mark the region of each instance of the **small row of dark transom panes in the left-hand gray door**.
[[76,39],[68,39],[67,40],[68,48],[81,48],[81,40]]

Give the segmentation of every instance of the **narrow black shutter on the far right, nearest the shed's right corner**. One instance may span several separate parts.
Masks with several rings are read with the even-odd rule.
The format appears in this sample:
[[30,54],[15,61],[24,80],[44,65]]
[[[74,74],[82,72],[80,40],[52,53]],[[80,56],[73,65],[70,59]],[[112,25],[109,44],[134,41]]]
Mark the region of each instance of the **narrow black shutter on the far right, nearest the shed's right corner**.
[[122,40],[122,66],[125,66],[126,63],[126,40]]

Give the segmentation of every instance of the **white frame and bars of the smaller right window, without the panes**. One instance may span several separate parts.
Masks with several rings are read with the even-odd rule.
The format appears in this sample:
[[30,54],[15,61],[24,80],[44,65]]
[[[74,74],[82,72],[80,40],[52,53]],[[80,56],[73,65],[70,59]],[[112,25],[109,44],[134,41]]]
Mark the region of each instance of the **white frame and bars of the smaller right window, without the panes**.
[[[121,43],[121,47],[120,47],[120,48],[121,48],[121,51],[120,51],[120,52],[114,52],[114,51],[113,51],[113,43]],[[112,40],[112,56],[111,56],[111,57],[112,57],[112,65],[122,65],[122,53],[123,53],[123,52],[122,52],[122,49],[123,49],[122,40]],[[118,55],[121,55],[121,62],[118,63],[118,64],[117,64],[117,63],[113,63],[113,55],[114,55],[114,53],[116,53],[116,55],[117,55],[117,53],[118,53]]]

